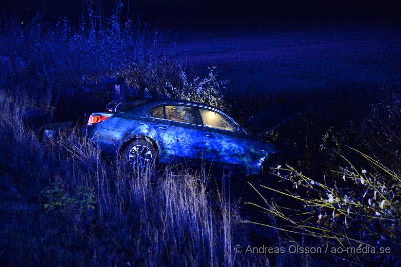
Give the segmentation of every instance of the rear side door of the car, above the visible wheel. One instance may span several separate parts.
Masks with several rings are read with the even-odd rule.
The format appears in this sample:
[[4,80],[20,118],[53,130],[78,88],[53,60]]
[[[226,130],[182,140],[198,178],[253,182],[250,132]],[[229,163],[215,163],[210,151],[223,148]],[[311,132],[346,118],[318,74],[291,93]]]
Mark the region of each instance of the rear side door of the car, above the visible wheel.
[[187,104],[164,104],[150,109],[159,137],[159,161],[190,162],[202,154],[203,127],[196,107]]

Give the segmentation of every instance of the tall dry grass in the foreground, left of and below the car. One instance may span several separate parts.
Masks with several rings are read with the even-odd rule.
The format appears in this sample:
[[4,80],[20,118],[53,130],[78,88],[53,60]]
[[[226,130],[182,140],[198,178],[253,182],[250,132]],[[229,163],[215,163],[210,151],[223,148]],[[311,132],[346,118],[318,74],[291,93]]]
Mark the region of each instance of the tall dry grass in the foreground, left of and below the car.
[[[1,92],[2,247],[22,264],[233,265],[239,224],[228,193],[185,169],[106,162],[77,132],[46,144],[28,100]],[[19,247],[19,249],[15,249]]]

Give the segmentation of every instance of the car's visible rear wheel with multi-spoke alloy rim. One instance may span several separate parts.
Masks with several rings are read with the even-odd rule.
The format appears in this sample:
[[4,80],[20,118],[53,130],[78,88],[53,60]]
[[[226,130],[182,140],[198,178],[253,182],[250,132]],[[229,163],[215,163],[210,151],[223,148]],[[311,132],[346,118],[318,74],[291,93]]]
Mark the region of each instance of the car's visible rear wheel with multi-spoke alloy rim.
[[131,141],[124,147],[122,160],[134,168],[144,169],[152,166],[156,159],[156,149],[152,142],[144,139]]

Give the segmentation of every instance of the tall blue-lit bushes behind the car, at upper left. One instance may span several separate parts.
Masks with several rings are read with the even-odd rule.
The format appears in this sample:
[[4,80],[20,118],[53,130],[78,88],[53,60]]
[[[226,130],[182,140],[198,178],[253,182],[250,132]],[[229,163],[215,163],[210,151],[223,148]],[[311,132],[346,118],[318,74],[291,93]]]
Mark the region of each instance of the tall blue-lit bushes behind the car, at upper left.
[[[121,9],[105,21],[90,8],[76,30],[67,18],[55,26],[41,20],[39,12],[27,25],[5,18],[0,30],[2,56],[0,85],[25,91],[36,101],[47,100],[58,118],[65,108],[103,108],[110,100],[102,77],[121,77],[128,85],[128,100],[146,93],[202,101],[225,107],[214,68],[205,78],[187,78],[170,52],[162,49],[163,34],[140,20],[121,22]],[[95,22],[96,21],[96,22]],[[136,23],[133,23],[136,22]],[[191,80],[191,81],[189,81]]]

